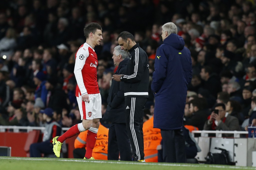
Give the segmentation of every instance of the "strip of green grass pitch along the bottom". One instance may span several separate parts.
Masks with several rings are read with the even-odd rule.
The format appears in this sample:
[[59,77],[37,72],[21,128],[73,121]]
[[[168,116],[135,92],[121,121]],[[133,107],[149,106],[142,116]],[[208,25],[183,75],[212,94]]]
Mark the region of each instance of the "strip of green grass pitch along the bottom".
[[128,161],[82,160],[63,158],[24,158],[0,156],[1,170],[229,170],[256,169],[254,167],[178,164],[178,163],[141,163]]

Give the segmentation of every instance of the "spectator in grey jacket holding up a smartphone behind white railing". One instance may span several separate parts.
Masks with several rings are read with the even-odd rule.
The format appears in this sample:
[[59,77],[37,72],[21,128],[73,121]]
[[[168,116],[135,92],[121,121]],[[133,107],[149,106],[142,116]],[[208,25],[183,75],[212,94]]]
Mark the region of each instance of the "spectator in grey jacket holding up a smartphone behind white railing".
[[[226,112],[225,104],[218,103],[205,122],[204,130],[240,131],[239,121]],[[232,137],[233,134],[223,134],[223,137]]]

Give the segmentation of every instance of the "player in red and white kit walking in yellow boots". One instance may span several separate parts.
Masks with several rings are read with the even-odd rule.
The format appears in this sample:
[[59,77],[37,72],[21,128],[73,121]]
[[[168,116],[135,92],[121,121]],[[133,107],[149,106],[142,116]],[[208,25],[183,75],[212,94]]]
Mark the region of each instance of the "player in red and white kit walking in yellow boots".
[[72,126],[61,136],[52,139],[53,151],[60,157],[62,143],[72,136],[88,130],[87,149],[84,159],[94,159],[94,148],[101,118],[101,95],[97,83],[98,58],[94,47],[100,45],[102,28],[98,23],[89,23],[84,27],[86,43],[81,45],[76,53],[74,74],[77,80],[76,97],[82,123]]

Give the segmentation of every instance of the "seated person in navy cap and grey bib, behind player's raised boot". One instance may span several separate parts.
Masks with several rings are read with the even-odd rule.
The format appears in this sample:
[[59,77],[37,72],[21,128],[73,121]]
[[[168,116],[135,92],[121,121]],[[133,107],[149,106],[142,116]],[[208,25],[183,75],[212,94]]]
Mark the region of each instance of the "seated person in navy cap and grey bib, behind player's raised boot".
[[46,122],[44,136],[42,142],[30,145],[30,157],[41,157],[42,153],[45,155],[54,154],[52,138],[61,134],[61,126],[52,118],[53,110],[46,108],[45,110],[40,110],[40,113],[43,114],[43,120]]

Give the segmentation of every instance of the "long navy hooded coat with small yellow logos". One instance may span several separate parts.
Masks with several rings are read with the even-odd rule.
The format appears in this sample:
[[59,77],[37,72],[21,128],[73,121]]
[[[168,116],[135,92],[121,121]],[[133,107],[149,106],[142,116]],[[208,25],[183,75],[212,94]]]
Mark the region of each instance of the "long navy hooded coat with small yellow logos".
[[155,92],[154,128],[182,128],[187,85],[192,79],[190,51],[181,36],[170,34],[156,51],[151,89]]

